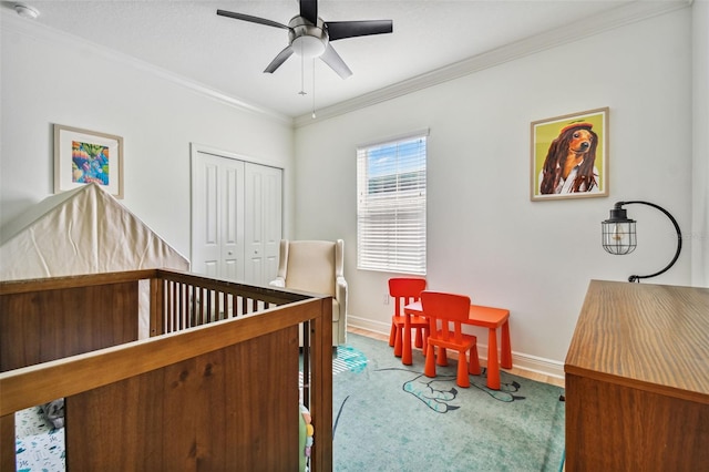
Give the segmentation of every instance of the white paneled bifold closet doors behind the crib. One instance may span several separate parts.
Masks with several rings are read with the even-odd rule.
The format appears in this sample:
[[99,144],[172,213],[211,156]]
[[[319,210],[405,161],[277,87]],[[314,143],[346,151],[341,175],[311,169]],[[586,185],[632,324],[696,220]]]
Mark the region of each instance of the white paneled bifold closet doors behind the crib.
[[193,150],[192,271],[246,284],[276,277],[282,170]]

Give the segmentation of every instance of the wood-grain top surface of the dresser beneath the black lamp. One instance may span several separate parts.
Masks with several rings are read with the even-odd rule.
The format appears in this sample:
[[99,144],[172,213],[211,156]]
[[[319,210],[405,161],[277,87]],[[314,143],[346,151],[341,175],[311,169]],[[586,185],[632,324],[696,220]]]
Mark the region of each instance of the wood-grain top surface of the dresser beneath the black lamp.
[[709,403],[709,288],[592,280],[564,371]]

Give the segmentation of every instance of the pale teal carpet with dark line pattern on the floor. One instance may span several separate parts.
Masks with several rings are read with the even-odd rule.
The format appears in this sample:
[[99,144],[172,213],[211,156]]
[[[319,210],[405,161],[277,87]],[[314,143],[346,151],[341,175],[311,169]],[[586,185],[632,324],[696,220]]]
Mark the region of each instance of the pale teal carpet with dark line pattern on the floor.
[[[387,342],[348,334],[333,371],[335,471],[558,471],[563,389],[501,372],[500,391],[456,361],[423,374],[414,350],[403,366]],[[317,443],[317,431],[316,431]]]

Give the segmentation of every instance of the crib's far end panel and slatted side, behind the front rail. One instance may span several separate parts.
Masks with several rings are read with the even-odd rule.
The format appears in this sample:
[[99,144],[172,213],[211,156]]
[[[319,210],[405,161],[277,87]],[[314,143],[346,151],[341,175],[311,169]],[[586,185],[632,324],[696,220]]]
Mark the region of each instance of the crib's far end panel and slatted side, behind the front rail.
[[153,337],[308,298],[166,269],[0,281],[0,371],[135,341],[143,321]]

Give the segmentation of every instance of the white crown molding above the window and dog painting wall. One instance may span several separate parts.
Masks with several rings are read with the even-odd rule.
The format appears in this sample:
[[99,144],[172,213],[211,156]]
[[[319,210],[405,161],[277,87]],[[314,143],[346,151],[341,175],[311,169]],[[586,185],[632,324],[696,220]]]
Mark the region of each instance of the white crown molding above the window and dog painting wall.
[[583,23],[574,23],[545,31],[543,33],[483,52],[463,61],[445,65],[434,71],[427,72],[415,78],[398,82],[393,85],[376,90],[371,93],[366,93],[354,99],[336,103],[331,106],[318,109],[315,119],[311,114],[296,116],[294,120],[294,126],[296,129],[307,126],[319,121],[372,106],[378,103],[424,90],[443,82],[460,79],[515,59],[643,21],[648,18],[679,10],[690,6],[692,0],[636,0],[631,3],[589,17]]

